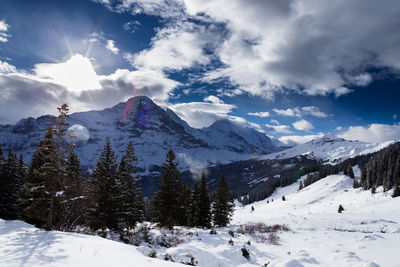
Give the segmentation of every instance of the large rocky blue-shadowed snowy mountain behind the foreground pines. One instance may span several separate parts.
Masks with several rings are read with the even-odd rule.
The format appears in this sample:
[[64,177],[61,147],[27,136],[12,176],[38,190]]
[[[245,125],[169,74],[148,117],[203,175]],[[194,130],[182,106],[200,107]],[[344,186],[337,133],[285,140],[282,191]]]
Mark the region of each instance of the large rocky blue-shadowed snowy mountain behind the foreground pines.
[[[29,161],[51,123],[51,116],[42,116],[22,119],[15,125],[0,125],[0,146],[23,153]],[[265,134],[227,120],[208,128],[192,128],[172,110],[163,110],[145,96],[100,111],[73,113],[69,123],[89,130],[89,140],[77,148],[82,165],[89,168],[96,164],[107,137],[117,156],[132,140],[139,166],[146,173],[164,161],[169,148],[176,152],[182,169],[246,160],[279,150]]]

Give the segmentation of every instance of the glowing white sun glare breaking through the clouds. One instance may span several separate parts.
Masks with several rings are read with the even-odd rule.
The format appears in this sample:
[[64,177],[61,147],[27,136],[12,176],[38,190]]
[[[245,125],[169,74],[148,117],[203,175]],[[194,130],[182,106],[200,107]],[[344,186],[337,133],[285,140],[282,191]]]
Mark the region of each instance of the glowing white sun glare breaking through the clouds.
[[101,87],[92,62],[80,54],[74,54],[61,63],[37,64],[35,72],[38,76],[51,79],[75,93]]

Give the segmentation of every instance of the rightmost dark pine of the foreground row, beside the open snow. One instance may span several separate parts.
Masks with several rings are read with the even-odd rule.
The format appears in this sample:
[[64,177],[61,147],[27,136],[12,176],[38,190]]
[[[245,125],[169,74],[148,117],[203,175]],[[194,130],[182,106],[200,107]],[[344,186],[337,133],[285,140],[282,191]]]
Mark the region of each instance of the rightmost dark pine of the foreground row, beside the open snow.
[[[233,207],[232,194],[229,192],[225,176],[221,175],[212,208],[214,225],[219,227],[227,226],[233,214]],[[252,211],[254,211],[254,207],[252,207]]]

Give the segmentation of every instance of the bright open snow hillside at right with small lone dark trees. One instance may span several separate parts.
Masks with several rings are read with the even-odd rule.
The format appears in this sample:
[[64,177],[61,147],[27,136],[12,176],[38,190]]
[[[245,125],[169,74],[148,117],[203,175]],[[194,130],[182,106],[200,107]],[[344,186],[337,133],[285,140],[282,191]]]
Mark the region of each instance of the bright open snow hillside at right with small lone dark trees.
[[292,230],[281,235],[281,246],[268,249],[268,267],[400,266],[400,198],[393,199],[392,191],[353,189],[344,175],[328,176],[301,191],[298,186],[279,188],[268,199],[235,211],[234,224],[277,223]]

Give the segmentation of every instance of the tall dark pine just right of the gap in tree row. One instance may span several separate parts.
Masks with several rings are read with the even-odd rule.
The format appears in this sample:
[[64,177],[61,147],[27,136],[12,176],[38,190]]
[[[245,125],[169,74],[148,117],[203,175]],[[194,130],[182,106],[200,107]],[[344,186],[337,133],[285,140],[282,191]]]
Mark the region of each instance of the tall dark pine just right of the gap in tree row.
[[172,229],[176,225],[178,189],[180,173],[175,162],[175,153],[167,152],[166,161],[161,166],[161,180],[158,191],[154,194],[154,210],[160,225]]

